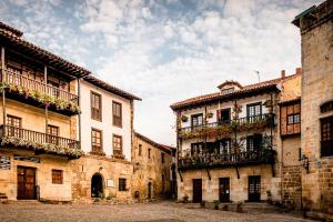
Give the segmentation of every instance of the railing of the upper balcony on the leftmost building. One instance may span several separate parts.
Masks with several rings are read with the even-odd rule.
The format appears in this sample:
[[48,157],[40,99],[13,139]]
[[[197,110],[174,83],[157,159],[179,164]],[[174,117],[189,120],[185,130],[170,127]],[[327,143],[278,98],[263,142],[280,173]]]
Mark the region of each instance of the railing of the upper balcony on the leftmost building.
[[[42,94],[48,94],[54,99],[62,99],[64,101],[71,101],[71,102],[78,104],[79,97],[73,93],[70,93],[65,90],[61,90],[57,87],[47,84],[44,82],[29,79],[20,73],[16,73],[11,70],[4,70],[4,72],[6,72],[4,82],[9,85],[20,87],[20,88],[22,88],[24,90],[29,90],[29,91],[37,91]],[[2,74],[0,73],[0,75],[1,75],[1,80],[2,80]]]

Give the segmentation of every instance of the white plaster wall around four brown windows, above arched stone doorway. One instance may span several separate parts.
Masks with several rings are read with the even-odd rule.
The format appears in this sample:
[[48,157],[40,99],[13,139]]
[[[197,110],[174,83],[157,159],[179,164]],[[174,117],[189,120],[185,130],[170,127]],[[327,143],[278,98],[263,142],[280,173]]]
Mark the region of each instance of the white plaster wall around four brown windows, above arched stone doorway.
[[[102,121],[91,119],[90,93],[91,91],[102,97]],[[112,134],[122,137],[122,150],[125,160],[131,160],[131,104],[130,100],[102,90],[89,82],[81,81],[81,148],[85,153],[91,151],[91,129],[95,128],[103,134],[103,151],[107,157],[113,154]],[[122,128],[112,124],[112,101],[122,104]]]

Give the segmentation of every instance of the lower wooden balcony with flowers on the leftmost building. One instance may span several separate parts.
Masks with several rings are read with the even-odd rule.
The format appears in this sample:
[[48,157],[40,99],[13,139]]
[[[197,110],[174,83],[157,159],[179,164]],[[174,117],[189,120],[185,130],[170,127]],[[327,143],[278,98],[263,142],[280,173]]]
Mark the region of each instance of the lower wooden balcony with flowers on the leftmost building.
[[32,150],[36,154],[57,154],[69,159],[80,158],[80,142],[42,132],[0,125],[1,147]]

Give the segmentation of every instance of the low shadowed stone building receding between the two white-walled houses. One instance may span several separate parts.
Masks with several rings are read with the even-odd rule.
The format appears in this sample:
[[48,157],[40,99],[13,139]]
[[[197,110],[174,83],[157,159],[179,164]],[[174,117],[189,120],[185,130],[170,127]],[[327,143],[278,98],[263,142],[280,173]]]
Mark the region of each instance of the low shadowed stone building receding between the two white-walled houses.
[[134,198],[171,198],[174,194],[174,148],[157,143],[134,132],[132,162],[134,173],[132,194]]

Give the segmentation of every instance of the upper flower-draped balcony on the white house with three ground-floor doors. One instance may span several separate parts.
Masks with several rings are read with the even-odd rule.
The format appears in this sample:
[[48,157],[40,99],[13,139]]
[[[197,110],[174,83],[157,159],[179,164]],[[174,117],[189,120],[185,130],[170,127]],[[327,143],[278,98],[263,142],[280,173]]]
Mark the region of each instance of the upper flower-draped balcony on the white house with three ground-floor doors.
[[181,128],[179,129],[179,135],[181,139],[230,137],[233,132],[263,130],[274,125],[274,114],[266,113],[239,118],[236,120]]

